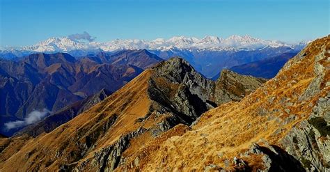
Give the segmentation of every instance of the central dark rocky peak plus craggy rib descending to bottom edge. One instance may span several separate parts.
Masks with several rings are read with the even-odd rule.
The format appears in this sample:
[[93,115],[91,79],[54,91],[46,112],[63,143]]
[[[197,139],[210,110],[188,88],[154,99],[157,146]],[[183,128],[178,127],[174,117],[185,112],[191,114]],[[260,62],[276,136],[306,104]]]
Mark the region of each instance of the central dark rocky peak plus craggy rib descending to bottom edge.
[[[214,82],[196,72],[184,59],[171,58],[151,70],[147,90],[151,104],[148,114],[136,120],[136,123],[143,126],[151,121],[153,127],[148,130],[139,128],[120,137],[116,143],[94,155],[93,159],[99,160],[88,160],[91,161],[88,166],[95,166],[95,169],[100,171],[116,169],[118,165],[125,163],[122,153],[127,149],[131,139],[146,132],[156,137],[180,123],[190,125],[203,112],[215,107],[211,102]],[[157,120],[156,123],[152,118],[161,120]],[[88,164],[88,161],[81,164]],[[84,170],[81,169],[81,165],[77,168]]]

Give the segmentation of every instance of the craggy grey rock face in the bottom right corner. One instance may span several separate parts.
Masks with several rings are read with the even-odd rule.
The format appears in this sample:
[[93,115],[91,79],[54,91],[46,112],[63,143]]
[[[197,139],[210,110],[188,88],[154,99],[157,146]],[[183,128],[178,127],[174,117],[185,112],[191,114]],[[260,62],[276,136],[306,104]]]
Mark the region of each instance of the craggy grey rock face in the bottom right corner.
[[329,115],[329,97],[320,98],[310,118],[281,141],[283,148],[299,159],[306,171],[330,171],[330,123],[324,118]]

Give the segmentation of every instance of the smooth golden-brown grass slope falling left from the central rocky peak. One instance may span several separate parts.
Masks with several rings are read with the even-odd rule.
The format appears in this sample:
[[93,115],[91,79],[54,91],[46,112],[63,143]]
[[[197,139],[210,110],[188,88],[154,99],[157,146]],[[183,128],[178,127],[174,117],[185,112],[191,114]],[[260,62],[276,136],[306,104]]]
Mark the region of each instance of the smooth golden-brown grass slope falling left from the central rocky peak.
[[[7,145],[0,153],[0,171],[57,171],[61,164],[93,156],[93,151],[111,145],[122,134],[136,130],[139,126],[134,120],[145,116],[150,105],[146,93],[150,73],[146,70],[120,91],[49,134],[29,139],[25,145],[19,146],[15,145],[21,142],[13,140],[13,146]],[[116,123],[108,130],[104,129],[107,123],[112,124],[113,118],[116,118]],[[89,135],[95,133],[98,135]],[[97,143],[95,147],[84,150],[88,138],[94,138]]]

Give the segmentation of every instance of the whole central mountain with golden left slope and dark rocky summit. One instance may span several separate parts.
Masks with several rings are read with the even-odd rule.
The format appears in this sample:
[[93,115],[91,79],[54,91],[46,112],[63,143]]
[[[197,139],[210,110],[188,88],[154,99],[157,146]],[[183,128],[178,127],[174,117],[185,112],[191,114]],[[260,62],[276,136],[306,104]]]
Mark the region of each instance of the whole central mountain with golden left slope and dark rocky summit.
[[191,125],[203,112],[216,107],[212,103],[217,102],[214,87],[214,81],[182,58],[160,62],[68,123],[37,136],[33,141],[37,145],[28,141],[9,158],[8,151],[16,146],[14,138],[0,154],[6,162],[0,162],[0,169],[15,168],[10,167],[11,161],[19,164],[23,160],[20,154],[31,151],[28,161],[37,158],[45,164],[25,163],[23,169],[116,169],[121,156],[136,146],[133,141],[159,136],[175,125]]

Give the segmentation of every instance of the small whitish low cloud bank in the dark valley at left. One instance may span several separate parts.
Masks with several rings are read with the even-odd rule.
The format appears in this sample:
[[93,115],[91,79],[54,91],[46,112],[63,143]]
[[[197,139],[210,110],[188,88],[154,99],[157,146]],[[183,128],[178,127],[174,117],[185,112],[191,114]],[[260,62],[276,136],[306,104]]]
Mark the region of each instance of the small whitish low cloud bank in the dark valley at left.
[[36,123],[39,120],[42,120],[42,118],[44,118],[48,113],[49,111],[47,109],[43,109],[42,111],[31,111],[31,113],[28,114],[24,120],[15,120],[9,123],[5,123],[5,127],[7,130],[11,130],[17,127],[24,127],[26,125],[30,125]]

